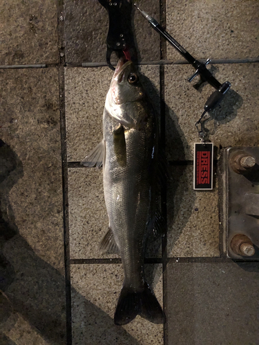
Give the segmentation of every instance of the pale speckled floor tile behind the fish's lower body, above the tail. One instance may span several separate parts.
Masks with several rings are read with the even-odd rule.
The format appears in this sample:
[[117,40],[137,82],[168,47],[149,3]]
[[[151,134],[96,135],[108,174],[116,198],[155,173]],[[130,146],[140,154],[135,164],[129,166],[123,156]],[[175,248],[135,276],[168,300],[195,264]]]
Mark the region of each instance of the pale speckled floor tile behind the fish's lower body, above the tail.
[[[68,169],[70,259],[119,257],[99,250],[108,230],[102,176],[102,169]],[[146,257],[161,257],[159,237],[149,236]]]

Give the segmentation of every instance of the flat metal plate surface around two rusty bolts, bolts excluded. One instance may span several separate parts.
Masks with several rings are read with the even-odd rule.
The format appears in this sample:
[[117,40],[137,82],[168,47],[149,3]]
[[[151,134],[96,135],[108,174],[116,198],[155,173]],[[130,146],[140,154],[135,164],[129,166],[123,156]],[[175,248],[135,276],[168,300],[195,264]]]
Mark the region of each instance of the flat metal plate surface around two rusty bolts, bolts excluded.
[[[231,157],[244,151],[256,159],[250,172],[237,173],[231,168]],[[223,155],[222,209],[224,225],[224,250],[227,257],[259,259],[259,148],[227,148]],[[256,250],[251,257],[233,253],[230,242],[237,234],[247,235]]]

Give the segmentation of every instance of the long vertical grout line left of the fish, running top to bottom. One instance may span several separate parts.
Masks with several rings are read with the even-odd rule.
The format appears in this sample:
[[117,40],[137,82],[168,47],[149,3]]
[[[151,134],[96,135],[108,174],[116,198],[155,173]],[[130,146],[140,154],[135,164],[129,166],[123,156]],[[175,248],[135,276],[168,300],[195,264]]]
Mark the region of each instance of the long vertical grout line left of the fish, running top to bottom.
[[70,242],[68,224],[68,162],[66,148],[66,105],[65,105],[65,44],[64,44],[64,1],[59,0],[57,8],[59,47],[59,112],[61,131],[61,164],[64,225],[64,266],[66,284],[66,345],[72,345],[72,310],[70,282]]

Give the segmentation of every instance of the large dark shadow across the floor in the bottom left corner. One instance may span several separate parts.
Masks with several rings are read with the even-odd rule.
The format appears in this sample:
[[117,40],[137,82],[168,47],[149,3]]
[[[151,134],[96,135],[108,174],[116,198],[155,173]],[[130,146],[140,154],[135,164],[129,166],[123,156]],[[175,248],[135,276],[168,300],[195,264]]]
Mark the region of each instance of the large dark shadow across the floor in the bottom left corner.
[[[0,166],[0,342],[4,345],[15,344],[8,334],[20,332],[16,329],[20,317],[27,325],[27,341],[33,342],[35,335],[40,335],[50,344],[66,344],[65,279],[58,270],[38,257],[19,235],[8,193],[23,177],[23,166],[15,152],[3,141],[0,141]],[[73,287],[72,295],[76,300],[83,300],[89,313],[95,315],[95,325],[90,326],[90,332],[84,330],[84,344],[91,344],[88,334],[100,334],[100,326],[103,330],[107,328],[109,336],[117,339],[117,344],[125,341],[139,344]],[[102,337],[98,344],[107,343]]]

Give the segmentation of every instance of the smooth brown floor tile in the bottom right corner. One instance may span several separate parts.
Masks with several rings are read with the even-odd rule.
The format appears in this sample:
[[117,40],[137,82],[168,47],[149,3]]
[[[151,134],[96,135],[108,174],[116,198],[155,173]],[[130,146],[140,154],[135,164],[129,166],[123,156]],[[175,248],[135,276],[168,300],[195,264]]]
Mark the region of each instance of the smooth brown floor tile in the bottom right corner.
[[259,341],[258,263],[169,263],[168,344]]

